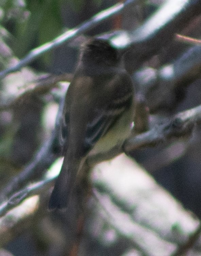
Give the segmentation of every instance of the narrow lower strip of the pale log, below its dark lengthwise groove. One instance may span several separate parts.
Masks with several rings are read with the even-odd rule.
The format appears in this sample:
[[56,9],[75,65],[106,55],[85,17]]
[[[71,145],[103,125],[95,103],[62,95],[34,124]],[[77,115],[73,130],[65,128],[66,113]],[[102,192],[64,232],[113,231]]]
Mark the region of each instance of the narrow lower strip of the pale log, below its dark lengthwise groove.
[[[176,245],[161,239],[151,229],[135,223],[130,214],[122,212],[109,197],[102,197],[96,189],[93,189],[93,194],[106,212],[105,221],[109,222],[122,237],[132,240],[141,252],[147,255],[165,256],[175,251]],[[151,246],[151,244],[158,247]]]

